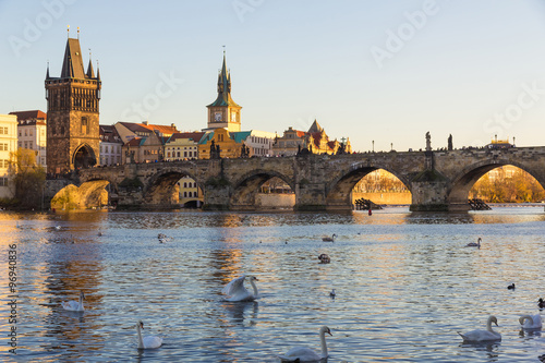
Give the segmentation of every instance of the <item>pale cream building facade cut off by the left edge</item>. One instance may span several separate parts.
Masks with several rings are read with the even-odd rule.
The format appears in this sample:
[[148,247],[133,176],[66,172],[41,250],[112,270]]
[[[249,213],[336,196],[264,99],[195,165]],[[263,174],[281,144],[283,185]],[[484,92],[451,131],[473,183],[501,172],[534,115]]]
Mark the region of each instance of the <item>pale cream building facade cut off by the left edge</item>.
[[9,171],[13,161],[13,153],[17,150],[17,117],[0,114],[0,198],[11,198],[15,185]]

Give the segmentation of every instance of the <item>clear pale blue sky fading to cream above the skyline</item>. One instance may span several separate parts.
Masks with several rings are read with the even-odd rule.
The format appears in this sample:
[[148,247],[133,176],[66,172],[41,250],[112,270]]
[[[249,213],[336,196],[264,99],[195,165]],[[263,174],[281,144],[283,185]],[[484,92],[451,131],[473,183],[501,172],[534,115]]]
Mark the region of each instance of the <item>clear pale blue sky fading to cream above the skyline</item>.
[[544,0],[0,0],[0,113],[47,111],[70,25],[99,61],[101,124],[205,128],[225,45],[243,130],[545,145]]

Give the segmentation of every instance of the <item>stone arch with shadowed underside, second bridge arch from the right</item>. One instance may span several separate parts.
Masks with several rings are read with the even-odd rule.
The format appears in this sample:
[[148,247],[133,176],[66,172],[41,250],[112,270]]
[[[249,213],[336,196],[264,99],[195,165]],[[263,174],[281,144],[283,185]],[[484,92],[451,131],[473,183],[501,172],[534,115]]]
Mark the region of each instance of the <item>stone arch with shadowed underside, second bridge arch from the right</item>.
[[398,178],[411,191],[411,182],[405,176],[400,174],[392,168],[370,162],[355,162],[350,168],[341,170],[326,186],[327,209],[352,209],[352,190],[355,184],[375,170],[386,170]]

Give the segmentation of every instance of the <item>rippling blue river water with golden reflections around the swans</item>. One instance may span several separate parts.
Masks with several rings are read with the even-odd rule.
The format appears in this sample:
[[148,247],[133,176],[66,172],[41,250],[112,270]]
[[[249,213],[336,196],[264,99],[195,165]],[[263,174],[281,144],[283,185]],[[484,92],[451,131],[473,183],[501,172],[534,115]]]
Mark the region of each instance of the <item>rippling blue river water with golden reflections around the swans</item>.
[[[171,241],[159,243],[158,233]],[[322,241],[332,233],[334,243]],[[481,249],[465,247],[477,237]],[[541,332],[521,331],[518,322],[538,314],[545,298],[543,207],[0,213],[0,246],[4,362],[279,362],[293,346],[319,351],[322,325],[332,332],[328,362],[538,362],[545,354]],[[319,264],[322,253],[330,264]],[[243,274],[258,278],[259,299],[221,301],[222,287]],[[63,311],[61,301],[80,291],[85,312]],[[488,315],[502,340],[462,343],[457,331],[484,329]],[[164,338],[161,348],[137,350],[138,319],[145,335]]]

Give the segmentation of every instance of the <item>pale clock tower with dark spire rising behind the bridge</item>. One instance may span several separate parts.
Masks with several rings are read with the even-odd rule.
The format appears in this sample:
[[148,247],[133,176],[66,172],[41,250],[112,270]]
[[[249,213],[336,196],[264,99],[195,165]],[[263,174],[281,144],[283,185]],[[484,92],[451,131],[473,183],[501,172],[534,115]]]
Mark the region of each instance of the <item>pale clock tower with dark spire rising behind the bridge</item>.
[[223,65],[218,74],[218,98],[206,107],[208,108],[208,128],[205,130],[225,128],[231,132],[241,131],[240,110],[242,107],[231,98],[231,73],[226,66],[225,51]]

